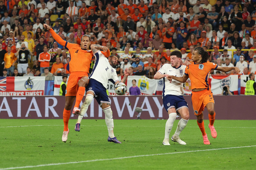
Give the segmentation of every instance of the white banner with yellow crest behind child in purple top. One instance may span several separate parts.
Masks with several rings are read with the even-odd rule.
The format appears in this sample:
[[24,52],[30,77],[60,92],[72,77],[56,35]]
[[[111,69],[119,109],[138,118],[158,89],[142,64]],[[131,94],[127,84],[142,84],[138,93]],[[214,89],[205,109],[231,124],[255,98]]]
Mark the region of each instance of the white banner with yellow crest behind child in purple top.
[[136,85],[140,88],[141,95],[155,94],[158,81],[155,79],[147,78],[146,76],[128,76],[126,93],[129,93],[129,88],[132,87],[133,79],[136,80]]

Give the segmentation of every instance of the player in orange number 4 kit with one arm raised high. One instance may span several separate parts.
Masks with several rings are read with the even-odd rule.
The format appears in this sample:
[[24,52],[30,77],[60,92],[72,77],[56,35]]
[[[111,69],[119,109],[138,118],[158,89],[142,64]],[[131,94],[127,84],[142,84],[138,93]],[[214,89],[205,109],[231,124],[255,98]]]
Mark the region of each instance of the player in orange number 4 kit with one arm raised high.
[[[81,38],[81,45],[71,44],[68,41],[63,40],[60,36],[54,32],[54,30],[44,24],[44,28],[52,34],[52,37],[65,49],[68,49],[70,55],[70,62],[67,65],[67,70],[70,72],[70,76],[68,78],[68,84],[66,88],[66,97],[65,97],[65,108],[63,111],[63,122],[64,122],[64,130],[62,135],[62,141],[66,142],[68,139],[68,120],[70,117],[70,110],[76,98],[76,103],[73,109],[73,114],[79,114],[80,110],[78,109],[85,92],[85,86],[89,83],[89,69],[90,64],[93,59],[92,50],[89,50],[91,42],[90,37],[88,35],[83,35]],[[107,47],[101,46],[101,49],[106,52],[108,50]],[[105,56],[109,56],[110,54],[105,54]]]

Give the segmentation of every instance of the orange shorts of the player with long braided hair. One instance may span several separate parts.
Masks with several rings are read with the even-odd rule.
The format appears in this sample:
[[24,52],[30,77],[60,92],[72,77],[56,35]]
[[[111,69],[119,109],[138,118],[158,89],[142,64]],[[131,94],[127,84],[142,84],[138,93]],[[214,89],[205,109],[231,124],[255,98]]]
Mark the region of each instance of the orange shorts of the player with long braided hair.
[[208,103],[214,103],[212,92],[207,89],[199,92],[192,91],[191,100],[195,115],[201,115]]

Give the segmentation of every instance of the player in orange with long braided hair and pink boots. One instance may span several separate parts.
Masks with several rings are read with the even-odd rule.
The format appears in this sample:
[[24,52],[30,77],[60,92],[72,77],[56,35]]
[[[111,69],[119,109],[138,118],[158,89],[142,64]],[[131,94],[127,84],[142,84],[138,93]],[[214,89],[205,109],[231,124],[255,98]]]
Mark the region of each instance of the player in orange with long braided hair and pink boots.
[[183,77],[168,76],[168,80],[171,81],[174,79],[185,83],[187,79],[190,78],[192,88],[192,106],[197,118],[197,124],[202,132],[204,144],[210,144],[204,129],[203,115],[204,107],[206,107],[209,112],[208,117],[210,121],[208,126],[211,130],[212,137],[216,138],[217,132],[213,126],[215,120],[214,100],[208,83],[210,72],[214,69],[223,72],[236,70],[236,72],[239,73],[240,70],[237,67],[220,67],[209,62],[209,53],[204,51],[204,48],[202,47],[195,48],[192,52],[191,58],[193,63],[187,66]]

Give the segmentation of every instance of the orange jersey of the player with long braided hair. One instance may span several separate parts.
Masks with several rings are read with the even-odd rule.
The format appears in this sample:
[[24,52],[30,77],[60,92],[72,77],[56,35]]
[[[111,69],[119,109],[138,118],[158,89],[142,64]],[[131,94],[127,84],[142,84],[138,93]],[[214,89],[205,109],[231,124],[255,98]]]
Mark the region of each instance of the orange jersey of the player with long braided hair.
[[209,75],[211,70],[216,70],[218,65],[207,61],[203,64],[191,63],[186,67],[185,75],[191,80],[191,89],[203,89],[211,91],[209,86]]

